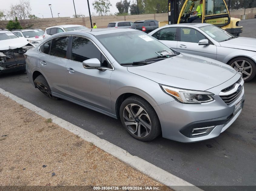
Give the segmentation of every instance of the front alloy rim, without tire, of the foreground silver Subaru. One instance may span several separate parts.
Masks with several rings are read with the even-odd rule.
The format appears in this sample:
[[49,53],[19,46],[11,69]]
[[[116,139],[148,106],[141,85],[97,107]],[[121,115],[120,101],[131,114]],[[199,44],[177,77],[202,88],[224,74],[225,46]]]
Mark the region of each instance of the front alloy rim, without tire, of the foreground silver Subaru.
[[123,112],[124,123],[128,130],[138,136],[146,137],[151,132],[151,120],[148,113],[137,104],[129,104]]

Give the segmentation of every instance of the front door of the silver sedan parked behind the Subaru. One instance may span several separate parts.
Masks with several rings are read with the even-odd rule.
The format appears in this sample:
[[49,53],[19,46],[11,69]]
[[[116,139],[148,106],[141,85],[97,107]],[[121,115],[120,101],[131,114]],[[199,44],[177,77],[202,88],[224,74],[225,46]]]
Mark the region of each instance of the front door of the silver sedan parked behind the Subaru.
[[[198,30],[190,27],[180,27],[177,50],[183,53],[216,59],[217,47]],[[198,45],[199,40],[208,39],[210,45]]]

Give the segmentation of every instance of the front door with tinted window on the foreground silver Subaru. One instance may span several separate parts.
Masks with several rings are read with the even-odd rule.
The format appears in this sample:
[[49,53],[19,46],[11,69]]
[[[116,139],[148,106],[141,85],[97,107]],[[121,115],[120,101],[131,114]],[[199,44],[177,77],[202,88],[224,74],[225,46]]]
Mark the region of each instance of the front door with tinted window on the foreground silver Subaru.
[[[82,62],[97,58],[109,70],[85,69]],[[71,59],[66,65],[72,99],[112,113],[110,100],[110,63],[95,44],[84,37],[73,37]]]

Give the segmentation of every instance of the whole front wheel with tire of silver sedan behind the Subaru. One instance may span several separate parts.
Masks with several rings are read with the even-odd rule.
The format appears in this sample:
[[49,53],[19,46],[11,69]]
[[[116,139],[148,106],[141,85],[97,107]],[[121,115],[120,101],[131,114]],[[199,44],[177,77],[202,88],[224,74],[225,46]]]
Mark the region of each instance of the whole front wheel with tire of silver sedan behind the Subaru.
[[256,64],[247,57],[236,57],[228,62],[228,65],[238,71],[245,82],[252,80],[256,75]]

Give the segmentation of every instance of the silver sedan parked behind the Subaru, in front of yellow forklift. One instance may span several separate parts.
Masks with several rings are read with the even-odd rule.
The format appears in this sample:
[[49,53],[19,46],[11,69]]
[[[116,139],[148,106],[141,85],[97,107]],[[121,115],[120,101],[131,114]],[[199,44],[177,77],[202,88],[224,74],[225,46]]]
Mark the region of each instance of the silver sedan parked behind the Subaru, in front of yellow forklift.
[[256,75],[254,38],[235,37],[215,25],[206,23],[166,25],[149,35],[180,52],[231,65],[241,74],[244,81],[250,81]]

